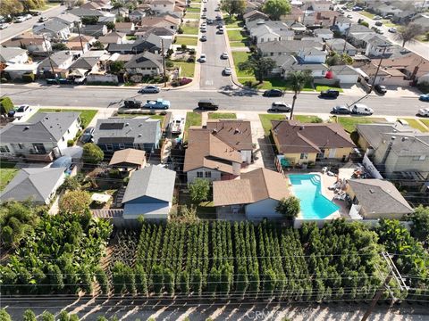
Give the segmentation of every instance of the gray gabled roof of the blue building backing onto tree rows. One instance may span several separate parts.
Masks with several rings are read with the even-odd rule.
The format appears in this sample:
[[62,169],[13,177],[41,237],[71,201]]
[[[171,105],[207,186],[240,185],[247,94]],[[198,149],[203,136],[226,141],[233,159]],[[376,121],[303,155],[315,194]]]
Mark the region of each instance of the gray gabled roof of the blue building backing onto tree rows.
[[147,196],[155,200],[172,202],[176,172],[159,166],[135,171],[130,177],[122,203]]

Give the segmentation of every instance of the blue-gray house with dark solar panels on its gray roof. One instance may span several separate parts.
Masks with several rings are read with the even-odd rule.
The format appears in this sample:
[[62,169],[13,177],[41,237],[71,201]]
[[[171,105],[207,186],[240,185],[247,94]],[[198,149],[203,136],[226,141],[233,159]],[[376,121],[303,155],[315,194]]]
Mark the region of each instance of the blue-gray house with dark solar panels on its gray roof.
[[160,147],[161,136],[159,119],[114,118],[97,119],[93,139],[104,152],[134,148],[152,153]]

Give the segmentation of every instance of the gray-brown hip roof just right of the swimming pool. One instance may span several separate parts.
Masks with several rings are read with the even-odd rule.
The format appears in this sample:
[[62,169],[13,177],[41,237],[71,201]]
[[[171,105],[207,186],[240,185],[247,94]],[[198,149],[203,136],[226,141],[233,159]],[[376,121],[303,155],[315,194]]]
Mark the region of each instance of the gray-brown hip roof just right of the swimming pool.
[[381,179],[349,179],[357,201],[366,213],[408,214],[413,211],[400,191],[391,182]]

